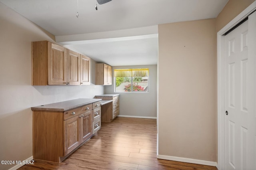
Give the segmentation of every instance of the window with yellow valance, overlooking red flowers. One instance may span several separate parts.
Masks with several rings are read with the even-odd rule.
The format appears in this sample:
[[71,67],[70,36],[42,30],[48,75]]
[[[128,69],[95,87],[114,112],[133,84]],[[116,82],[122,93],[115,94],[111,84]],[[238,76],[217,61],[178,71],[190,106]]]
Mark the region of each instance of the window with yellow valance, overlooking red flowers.
[[148,92],[149,69],[114,69],[115,92]]

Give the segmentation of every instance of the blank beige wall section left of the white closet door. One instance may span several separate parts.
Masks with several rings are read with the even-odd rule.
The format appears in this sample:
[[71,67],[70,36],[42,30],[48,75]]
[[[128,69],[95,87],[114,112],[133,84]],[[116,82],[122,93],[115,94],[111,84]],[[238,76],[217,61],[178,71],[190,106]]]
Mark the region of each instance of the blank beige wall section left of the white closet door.
[[158,26],[159,155],[217,161],[215,26]]

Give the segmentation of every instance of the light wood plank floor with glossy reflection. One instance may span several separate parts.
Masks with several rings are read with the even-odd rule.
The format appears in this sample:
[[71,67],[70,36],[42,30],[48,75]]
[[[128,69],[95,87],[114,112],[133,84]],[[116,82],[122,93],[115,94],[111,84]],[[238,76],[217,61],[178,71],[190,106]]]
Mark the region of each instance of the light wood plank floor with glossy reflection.
[[21,170],[217,170],[156,158],[156,120],[117,117],[58,163],[35,162]]

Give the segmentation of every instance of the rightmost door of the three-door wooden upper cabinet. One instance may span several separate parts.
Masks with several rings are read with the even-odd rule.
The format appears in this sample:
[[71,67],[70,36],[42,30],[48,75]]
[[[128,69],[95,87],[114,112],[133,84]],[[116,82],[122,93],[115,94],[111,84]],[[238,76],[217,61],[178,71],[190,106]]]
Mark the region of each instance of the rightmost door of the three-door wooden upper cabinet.
[[85,55],[80,55],[81,64],[81,85],[90,85],[90,61],[91,59]]

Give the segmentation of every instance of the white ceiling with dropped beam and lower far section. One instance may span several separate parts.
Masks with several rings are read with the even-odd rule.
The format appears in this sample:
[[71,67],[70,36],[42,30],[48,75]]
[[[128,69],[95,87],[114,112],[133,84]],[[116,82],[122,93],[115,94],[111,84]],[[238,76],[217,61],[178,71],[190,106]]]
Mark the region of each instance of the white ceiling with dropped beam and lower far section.
[[112,66],[157,64],[158,24],[216,18],[228,0],[0,0],[56,42]]

